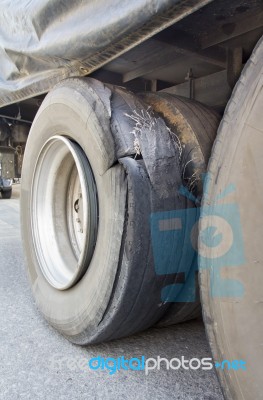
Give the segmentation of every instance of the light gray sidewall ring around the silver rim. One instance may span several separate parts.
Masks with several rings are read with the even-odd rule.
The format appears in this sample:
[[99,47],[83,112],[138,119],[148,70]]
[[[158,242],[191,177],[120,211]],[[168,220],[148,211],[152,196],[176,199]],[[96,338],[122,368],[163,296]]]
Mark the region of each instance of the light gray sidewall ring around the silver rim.
[[[37,304],[46,319],[63,334],[96,327],[111,295],[125,218],[127,184],[122,166],[112,168],[114,143],[105,135],[105,121],[94,109],[101,104],[87,86],[72,80],[72,87],[58,85],[45,99],[29,135],[23,165],[21,190],[22,240],[26,249],[28,275]],[[94,99],[95,97],[95,99]],[[97,101],[97,103],[96,103]],[[101,118],[100,118],[101,119]],[[64,135],[84,150],[93,170],[99,203],[99,229],[93,258],[84,277],[72,288],[60,291],[45,280],[34,251],[31,229],[31,183],[38,154],[54,135]],[[109,238],[114,240],[109,244]]]

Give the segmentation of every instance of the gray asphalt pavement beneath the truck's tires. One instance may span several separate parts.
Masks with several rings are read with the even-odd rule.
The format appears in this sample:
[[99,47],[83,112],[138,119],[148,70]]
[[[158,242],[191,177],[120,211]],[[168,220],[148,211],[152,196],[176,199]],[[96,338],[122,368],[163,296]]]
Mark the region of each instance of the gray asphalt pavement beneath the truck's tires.
[[0,199],[0,399],[222,400],[214,370],[92,371],[92,357],[210,357],[201,321],[111,343],[77,347],[51,329],[34,306],[19,232],[19,187]]

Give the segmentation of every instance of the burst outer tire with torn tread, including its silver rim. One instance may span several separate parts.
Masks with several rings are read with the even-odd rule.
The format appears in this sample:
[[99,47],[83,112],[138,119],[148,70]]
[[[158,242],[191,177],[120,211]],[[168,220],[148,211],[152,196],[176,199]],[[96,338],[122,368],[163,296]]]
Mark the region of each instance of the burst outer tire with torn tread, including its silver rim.
[[46,96],[25,151],[22,240],[36,303],[72,342],[138,332],[167,309],[170,275],[155,272],[150,216],[186,207],[178,166],[165,123],[142,102],[131,108],[117,89],[78,78]]

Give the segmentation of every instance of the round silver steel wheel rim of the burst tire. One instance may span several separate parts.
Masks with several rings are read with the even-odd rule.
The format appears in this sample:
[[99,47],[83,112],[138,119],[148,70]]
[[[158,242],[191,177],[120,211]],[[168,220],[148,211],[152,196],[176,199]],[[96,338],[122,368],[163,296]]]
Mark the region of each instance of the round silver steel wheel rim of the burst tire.
[[53,136],[42,147],[31,190],[31,228],[40,270],[56,289],[86,273],[98,230],[96,183],[81,147]]

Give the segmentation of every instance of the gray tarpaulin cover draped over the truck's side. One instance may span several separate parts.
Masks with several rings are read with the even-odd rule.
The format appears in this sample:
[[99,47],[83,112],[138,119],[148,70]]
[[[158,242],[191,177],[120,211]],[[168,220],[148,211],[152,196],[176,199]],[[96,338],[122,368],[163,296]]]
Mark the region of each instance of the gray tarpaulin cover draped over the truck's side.
[[207,2],[0,0],[0,106],[94,71]]

